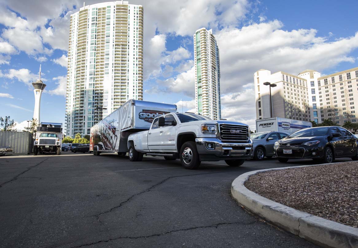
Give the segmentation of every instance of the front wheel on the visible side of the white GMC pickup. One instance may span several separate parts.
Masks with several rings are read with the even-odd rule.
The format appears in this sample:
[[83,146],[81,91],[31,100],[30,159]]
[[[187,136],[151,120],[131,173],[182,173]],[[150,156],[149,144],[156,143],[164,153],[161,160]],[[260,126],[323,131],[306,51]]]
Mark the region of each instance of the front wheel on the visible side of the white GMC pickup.
[[182,148],[180,149],[180,161],[185,169],[198,169],[201,161],[194,141],[187,141],[182,145]]

